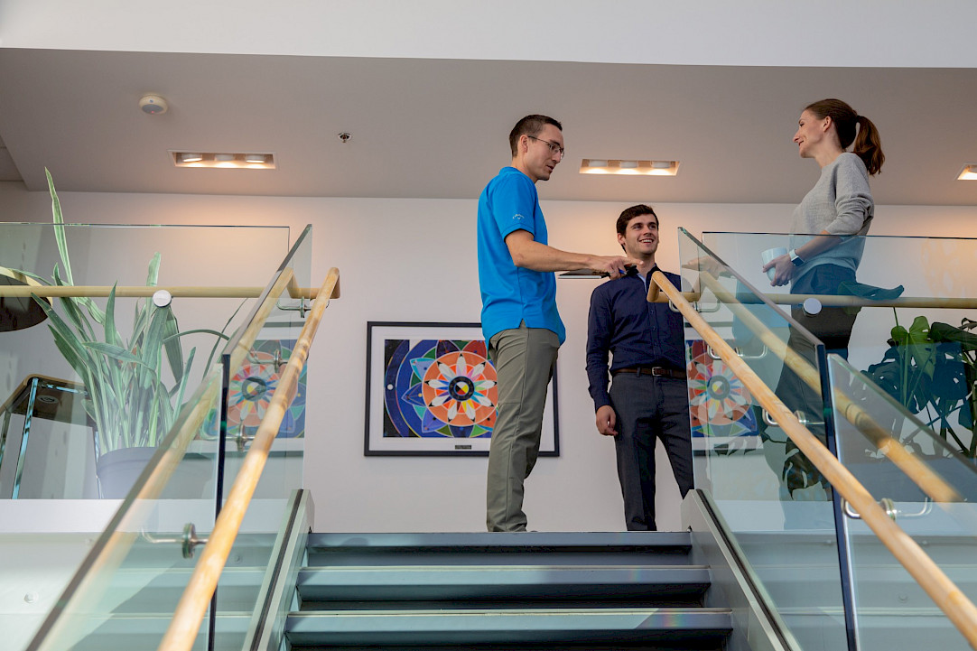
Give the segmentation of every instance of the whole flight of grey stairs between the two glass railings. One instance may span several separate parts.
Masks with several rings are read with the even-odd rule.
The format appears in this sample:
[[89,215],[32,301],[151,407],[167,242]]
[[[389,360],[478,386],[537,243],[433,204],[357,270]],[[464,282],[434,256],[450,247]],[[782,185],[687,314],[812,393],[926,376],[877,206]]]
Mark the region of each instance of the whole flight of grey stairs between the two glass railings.
[[687,533],[313,534],[292,649],[724,649]]

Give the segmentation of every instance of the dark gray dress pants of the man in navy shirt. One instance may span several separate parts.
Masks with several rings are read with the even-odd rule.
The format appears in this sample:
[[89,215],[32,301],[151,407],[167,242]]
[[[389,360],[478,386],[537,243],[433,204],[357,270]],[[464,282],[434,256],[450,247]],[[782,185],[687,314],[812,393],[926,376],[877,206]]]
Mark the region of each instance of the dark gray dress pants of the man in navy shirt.
[[617,414],[617,478],[628,531],[657,531],[655,442],[661,439],[682,497],[693,488],[692,427],[684,379],[618,373],[611,384]]

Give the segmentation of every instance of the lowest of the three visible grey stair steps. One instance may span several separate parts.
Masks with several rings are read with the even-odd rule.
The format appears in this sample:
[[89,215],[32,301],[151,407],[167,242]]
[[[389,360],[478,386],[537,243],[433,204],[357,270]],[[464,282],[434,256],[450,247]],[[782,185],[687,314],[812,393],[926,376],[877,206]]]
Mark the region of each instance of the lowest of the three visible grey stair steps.
[[[724,608],[554,608],[533,611],[457,609],[318,611],[289,615],[293,648],[370,645],[587,644],[666,642],[673,648],[718,649],[732,631]],[[323,642],[328,644],[323,644]]]

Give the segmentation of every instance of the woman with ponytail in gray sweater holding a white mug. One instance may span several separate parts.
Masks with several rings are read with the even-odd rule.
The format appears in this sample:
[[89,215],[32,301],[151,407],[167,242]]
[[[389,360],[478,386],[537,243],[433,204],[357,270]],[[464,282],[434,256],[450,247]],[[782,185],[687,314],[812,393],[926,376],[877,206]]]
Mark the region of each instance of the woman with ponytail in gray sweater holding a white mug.
[[[789,252],[764,265],[763,271],[774,268],[772,284],[789,282],[791,293],[837,294],[842,282],[855,281],[855,270],[862,261],[865,239],[857,236],[869,232],[875,207],[869,177],[882,168],[885,155],[871,120],[840,100],[809,105],[797,125],[793,142],[802,158],[818,162],[821,177],[793,211]],[[852,143],[853,151],[846,152]],[[791,316],[821,339],[828,353],[847,359],[854,314],[844,308],[825,308],[815,316],[806,316],[796,307]],[[817,364],[806,337],[791,330],[787,345]],[[824,420],[820,393],[786,367],[777,395],[790,411],[805,412],[813,423]],[[824,439],[823,425],[812,424],[811,431]],[[828,482],[789,440],[782,478],[790,499],[828,498]],[[823,494],[815,488],[819,484],[825,489]],[[803,493],[795,493],[797,490]]]

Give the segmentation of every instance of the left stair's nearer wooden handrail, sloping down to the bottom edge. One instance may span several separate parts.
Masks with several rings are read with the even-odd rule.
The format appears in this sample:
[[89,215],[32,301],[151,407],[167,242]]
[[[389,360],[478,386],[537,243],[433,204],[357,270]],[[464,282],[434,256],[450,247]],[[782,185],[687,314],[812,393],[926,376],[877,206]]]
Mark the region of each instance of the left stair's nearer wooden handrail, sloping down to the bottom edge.
[[309,357],[309,348],[322,320],[322,313],[329,303],[329,297],[332,296],[337,282],[339,282],[339,271],[335,268],[330,269],[319,288],[319,296],[326,298],[324,301],[317,300],[313,304],[312,311],[302,327],[295,349],[281,373],[275,395],[265,412],[265,418],[258,426],[251,449],[241,462],[240,470],[234,479],[234,486],[231,487],[228,499],[217,517],[214,530],[210,533],[209,540],[200,554],[200,560],[193,568],[190,582],[184,589],[180,603],[177,604],[173,620],[159,643],[158,651],[189,651],[193,646],[193,640],[200,629],[210,597],[227,564],[244,513],[258,486],[258,480],[261,479],[272,444],[275,442],[281,421],[291,402],[290,396],[298,386],[299,375]]

